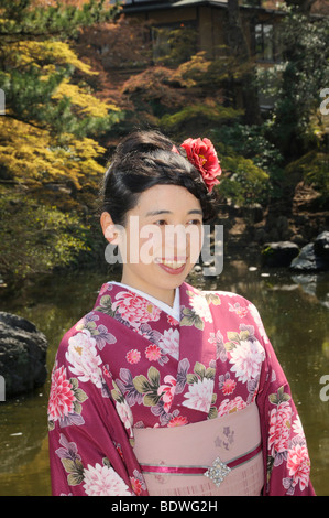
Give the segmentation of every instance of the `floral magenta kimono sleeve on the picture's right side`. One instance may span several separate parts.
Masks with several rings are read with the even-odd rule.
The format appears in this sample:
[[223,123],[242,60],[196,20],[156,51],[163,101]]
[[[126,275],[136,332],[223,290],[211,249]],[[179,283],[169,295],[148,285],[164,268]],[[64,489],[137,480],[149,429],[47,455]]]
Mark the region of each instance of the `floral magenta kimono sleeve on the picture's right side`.
[[314,496],[310,460],[303,425],[286,376],[256,307],[249,306],[265,349],[257,407],[264,451],[264,496]]

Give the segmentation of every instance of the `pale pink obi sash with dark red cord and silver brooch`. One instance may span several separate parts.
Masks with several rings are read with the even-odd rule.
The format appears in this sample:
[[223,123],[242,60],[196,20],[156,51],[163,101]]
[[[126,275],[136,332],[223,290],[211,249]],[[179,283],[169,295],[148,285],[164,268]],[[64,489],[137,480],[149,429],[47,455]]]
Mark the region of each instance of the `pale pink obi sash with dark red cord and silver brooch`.
[[151,496],[260,496],[264,485],[259,409],[184,427],[134,428],[134,453]]

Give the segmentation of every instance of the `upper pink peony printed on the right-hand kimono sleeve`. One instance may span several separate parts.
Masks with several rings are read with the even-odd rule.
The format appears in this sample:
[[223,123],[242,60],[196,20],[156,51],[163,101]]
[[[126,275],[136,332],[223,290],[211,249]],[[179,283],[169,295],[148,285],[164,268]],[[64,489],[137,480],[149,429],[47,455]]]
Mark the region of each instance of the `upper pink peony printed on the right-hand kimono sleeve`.
[[274,457],[276,453],[288,450],[293,410],[288,402],[281,403],[270,413],[268,450]]

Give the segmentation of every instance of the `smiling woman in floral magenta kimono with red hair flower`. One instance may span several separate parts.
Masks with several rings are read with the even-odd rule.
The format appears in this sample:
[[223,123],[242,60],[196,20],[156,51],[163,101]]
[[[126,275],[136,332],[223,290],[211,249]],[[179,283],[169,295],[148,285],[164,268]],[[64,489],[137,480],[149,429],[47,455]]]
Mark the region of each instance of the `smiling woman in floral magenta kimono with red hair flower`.
[[257,310],[185,282],[220,172],[207,139],[178,150],[146,131],[118,147],[100,223],[122,279],[100,288],[57,352],[54,495],[314,495],[303,428]]

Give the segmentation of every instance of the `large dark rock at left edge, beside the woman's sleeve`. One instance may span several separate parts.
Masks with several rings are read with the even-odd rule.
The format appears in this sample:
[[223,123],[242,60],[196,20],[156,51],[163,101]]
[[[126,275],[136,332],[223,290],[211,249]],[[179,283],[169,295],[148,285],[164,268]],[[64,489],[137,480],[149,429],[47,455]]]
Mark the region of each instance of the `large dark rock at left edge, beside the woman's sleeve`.
[[47,341],[22,316],[0,312],[0,375],[6,398],[41,387],[46,381]]

